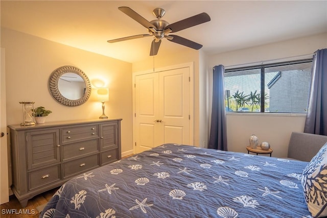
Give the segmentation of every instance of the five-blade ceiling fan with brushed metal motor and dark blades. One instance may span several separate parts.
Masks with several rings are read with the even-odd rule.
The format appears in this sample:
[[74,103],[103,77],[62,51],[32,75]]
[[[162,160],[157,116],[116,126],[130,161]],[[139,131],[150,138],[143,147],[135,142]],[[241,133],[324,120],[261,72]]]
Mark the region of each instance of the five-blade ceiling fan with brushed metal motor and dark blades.
[[140,23],[142,26],[148,29],[149,34],[139,34],[134,36],[128,36],[118,39],[112,39],[108,40],[109,43],[113,42],[120,42],[125,41],[129,39],[137,39],[137,38],[143,38],[147,36],[154,36],[154,39],[151,43],[151,50],[150,50],[150,56],[154,56],[158,53],[159,46],[161,43],[161,39],[166,38],[169,41],[191,47],[192,49],[199,50],[201,49],[202,45],[199,43],[196,43],[194,41],[191,41],[189,39],[185,39],[183,37],[177,36],[177,35],[169,35],[170,33],[175,33],[181,30],[184,30],[186,28],[190,28],[196,25],[199,25],[201,23],[210,21],[210,17],[207,13],[200,13],[197,15],[194,15],[192,17],[179,20],[177,22],[174,22],[172,24],[169,24],[166,20],[161,19],[162,16],[165,15],[165,10],[162,8],[156,8],[153,10],[154,16],[157,18],[155,20],[148,21],[135,11],[133,11],[129,7],[119,7],[119,10],[121,10],[123,13],[125,13],[127,16],[131,17],[138,23]]

